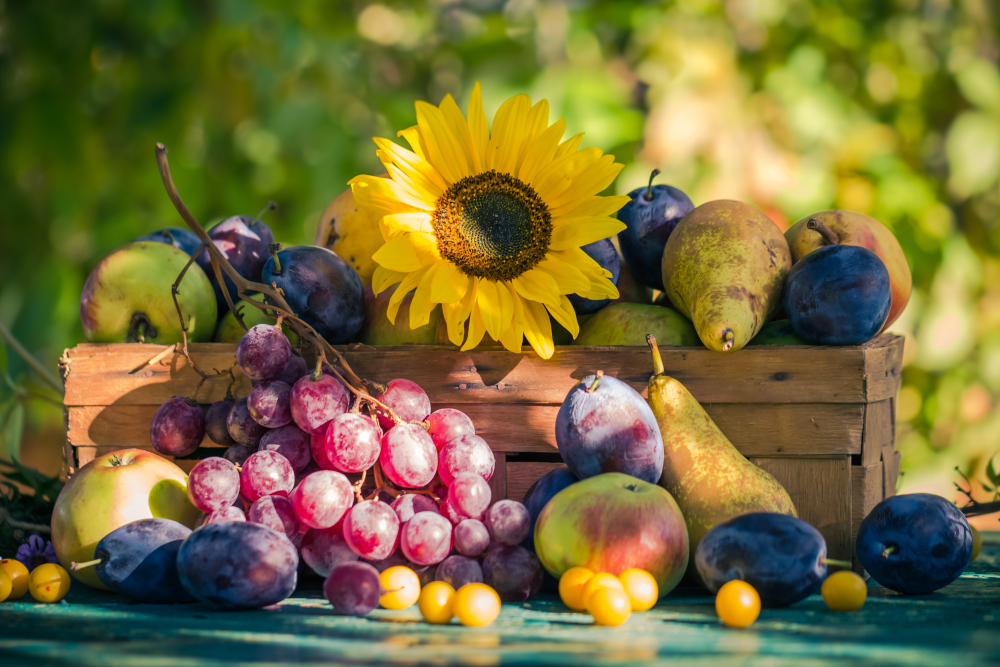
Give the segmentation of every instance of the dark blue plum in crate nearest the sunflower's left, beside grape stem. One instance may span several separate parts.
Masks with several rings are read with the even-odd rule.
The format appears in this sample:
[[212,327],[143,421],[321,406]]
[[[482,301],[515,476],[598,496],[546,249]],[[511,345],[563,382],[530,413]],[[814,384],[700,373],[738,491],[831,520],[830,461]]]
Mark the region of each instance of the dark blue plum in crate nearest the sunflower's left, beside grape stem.
[[347,343],[365,323],[361,276],[340,255],[318,246],[293,246],[264,265],[262,282],[285,293],[295,314],[328,343]]

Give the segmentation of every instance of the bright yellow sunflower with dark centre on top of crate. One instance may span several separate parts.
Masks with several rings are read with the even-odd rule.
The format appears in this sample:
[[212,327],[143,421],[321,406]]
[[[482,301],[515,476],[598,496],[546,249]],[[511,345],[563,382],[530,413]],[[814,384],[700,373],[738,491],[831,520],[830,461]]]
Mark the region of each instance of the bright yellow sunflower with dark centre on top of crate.
[[466,116],[450,95],[416,109],[417,124],[399,132],[410,150],[374,140],[389,178],[350,182],[385,239],[372,256],[372,289],[399,283],[387,312],[393,323],[415,289],[412,328],[440,303],[448,338],[463,350],[489,334],[512,352],[526,338],[548,359],[550,315],[574,338],[580,331],[567,295],[618,297],[611,273],[580,246],[625,228],[609,216],[628,197],[597,195],[622,165],[597,148],[580,150],[583,135],[561,141],[566,122],[549,125],[548,102],[532,105],[527,95],[500,106],[492,132],[478,83]]

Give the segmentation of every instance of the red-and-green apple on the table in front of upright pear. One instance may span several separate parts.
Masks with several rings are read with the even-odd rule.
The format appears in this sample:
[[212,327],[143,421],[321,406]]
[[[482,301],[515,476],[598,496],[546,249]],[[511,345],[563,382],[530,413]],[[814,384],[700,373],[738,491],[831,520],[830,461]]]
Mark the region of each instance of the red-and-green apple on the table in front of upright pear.
[[684,576],[688,533],[666,489],[620,472],[588,477],[545,505],[535,523],[535,553],[558,579],[571,567],[617,576],[646,570],[669,593]]

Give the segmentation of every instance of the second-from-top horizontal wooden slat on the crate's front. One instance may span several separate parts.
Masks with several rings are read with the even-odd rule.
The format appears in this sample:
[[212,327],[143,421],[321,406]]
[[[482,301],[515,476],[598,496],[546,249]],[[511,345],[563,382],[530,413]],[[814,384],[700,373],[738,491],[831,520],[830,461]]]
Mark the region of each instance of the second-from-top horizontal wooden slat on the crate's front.
[[[74,446],[119,448],[149,444],[149,425],[159,406],[110,405],[67,408]],[[464,411],[476,432],[501,452],[555,453],[558,405],[435,404]],[[744,456],[827,457],[861,451],[864,406],[851,403],[715,403],[705,406]],[[203,447],[216,446],[207,437]]]

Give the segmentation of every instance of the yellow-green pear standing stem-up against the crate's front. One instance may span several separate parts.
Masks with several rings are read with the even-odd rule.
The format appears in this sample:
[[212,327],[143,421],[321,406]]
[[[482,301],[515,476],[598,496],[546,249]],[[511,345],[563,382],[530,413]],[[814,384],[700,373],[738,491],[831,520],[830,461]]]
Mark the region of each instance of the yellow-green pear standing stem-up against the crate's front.
[[649,407],[663,437],[659,484],[684,515],[690,562],[705,534],[724,521],[750,512],[797,516],[778,480],[740,454],[691,392],[664,374],[656,338],[647,342],[656,371],[649,379]]

